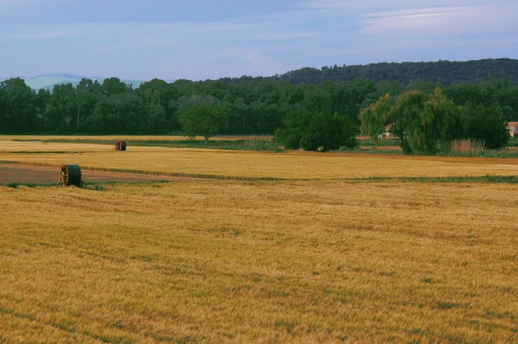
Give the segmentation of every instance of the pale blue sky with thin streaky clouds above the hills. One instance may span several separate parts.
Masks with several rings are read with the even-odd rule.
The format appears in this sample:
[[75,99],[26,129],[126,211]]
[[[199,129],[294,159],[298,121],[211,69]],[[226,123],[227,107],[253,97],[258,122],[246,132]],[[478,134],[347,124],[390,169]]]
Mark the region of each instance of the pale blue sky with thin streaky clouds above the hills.
[[193,81],[518,59],[517,0],[0,0],[0,77]]

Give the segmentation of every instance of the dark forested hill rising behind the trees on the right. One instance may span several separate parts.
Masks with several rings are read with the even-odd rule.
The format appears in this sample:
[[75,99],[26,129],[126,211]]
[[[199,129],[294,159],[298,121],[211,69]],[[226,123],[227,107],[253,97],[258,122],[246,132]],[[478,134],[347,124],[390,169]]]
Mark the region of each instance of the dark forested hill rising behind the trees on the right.
[[352,81],[356,78],[399,81],[409,85],[413,81],[439,82],[445,86],[470,81],[480,83],[495,78],[506,78],[512,85],[518,85],[518,60],[483,59],[477,61],[438,61],[373,63],[370,65],[343,65],[338,67],[301,68],[271,79],[289,81],[294,85],[307,83],[317,85],[322,81]]

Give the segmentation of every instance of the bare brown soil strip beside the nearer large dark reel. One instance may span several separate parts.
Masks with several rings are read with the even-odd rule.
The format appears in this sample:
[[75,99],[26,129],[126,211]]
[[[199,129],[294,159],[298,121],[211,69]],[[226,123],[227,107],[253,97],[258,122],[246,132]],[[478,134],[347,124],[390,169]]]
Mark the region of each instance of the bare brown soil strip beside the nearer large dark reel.
[[[58,168],[47,168],[28,165],[3,165],[0,164],[0,184],[9,183],[35,183],[52,184],[57,183]],[[143,176],[131,173],[97,172],[81,170],[82,178],[89,183],[102,183],[116,181],[119,183],[135,183],[172,180],[167,177]]]

